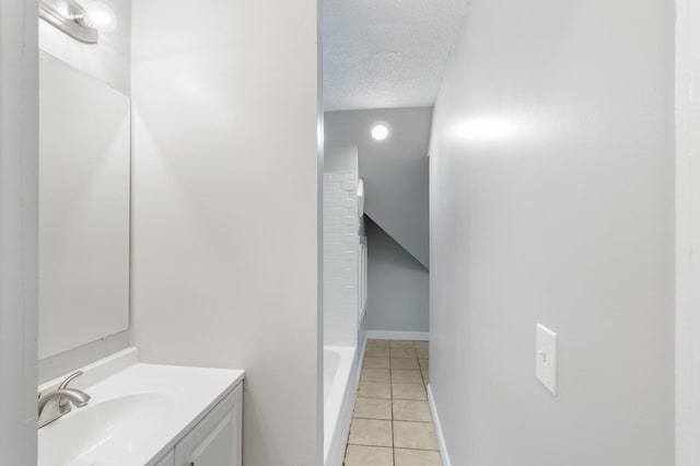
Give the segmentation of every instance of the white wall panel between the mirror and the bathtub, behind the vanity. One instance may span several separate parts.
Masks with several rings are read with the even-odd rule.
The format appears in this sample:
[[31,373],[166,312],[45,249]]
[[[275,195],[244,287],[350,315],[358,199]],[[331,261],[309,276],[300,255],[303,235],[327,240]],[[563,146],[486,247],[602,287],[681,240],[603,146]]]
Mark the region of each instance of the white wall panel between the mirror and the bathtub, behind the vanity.
[[132,341],[246,370],[246,465],[317,464],[316,1],[140,0],[132,18]]

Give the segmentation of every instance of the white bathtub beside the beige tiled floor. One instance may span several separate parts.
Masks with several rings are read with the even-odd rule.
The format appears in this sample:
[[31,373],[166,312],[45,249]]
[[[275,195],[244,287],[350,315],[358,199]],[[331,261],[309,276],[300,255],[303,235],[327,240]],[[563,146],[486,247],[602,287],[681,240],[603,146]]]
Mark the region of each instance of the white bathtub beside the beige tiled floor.
[[340,466],[358,391],[355,348],[324,347],[324,465]]

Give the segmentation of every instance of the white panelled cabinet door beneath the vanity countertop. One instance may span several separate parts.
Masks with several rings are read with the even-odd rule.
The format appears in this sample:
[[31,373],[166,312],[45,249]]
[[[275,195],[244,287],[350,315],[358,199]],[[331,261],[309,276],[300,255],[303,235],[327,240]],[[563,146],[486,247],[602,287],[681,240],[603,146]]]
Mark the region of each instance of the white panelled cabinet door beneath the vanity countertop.
[[242,389],[217,405],[176,446],[176,466],[241,466]]

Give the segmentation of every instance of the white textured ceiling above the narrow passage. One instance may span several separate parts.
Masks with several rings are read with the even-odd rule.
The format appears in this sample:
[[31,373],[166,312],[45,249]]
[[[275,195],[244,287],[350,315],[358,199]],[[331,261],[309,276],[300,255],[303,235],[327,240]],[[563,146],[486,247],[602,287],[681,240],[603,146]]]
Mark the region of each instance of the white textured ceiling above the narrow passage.
[[428,106],[467,0],[324,0],[326,110]]

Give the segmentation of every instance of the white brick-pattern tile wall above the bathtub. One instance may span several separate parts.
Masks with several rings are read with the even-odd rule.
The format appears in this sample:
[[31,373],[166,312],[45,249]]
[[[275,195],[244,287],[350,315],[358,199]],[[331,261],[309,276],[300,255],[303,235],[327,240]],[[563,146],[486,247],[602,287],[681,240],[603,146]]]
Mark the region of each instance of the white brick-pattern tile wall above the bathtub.
[[358,339],[358,173],[324,174],[324,343]]

